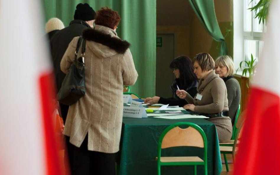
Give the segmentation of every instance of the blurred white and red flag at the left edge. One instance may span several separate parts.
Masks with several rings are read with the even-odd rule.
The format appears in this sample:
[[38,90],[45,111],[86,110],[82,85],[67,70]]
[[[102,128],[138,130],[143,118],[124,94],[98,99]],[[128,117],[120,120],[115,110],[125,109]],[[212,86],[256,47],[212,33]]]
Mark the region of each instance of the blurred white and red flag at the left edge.
[[0,1],[0,174],[60,175],[41,1]]

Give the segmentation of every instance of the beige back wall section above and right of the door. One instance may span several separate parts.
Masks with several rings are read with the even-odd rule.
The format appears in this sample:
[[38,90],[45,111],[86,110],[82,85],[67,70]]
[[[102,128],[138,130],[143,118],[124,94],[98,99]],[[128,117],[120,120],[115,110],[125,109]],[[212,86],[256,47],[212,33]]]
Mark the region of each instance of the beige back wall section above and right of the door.
[[157,26],[157,34],[172,33],[175,36],[175,57],[190,56],[190,26]]

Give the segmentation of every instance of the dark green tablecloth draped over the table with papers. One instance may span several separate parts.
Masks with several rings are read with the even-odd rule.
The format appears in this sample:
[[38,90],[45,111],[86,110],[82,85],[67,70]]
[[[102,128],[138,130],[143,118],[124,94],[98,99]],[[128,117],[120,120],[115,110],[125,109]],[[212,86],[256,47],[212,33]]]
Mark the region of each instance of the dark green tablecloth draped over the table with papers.
[[[120,152],[118,154],[120,175],[156,175],[157,174],[157,143],[162,131],[175,122],[193,122],[205,132],[208,141],[208,175],[219,175],[222,171],[219,140],[216,127],[205,119],[158,119],[123,117]],[[201,148],[167,148],[162,155],[193,156],[203,158]],[[174,153],[173,153],[174,152]],[[178,154],[180,153],[180,154]],[[163,166],[162,175],[193,174],[193,166]],[[204,167],[197,167],[197,174],[204,174]]]

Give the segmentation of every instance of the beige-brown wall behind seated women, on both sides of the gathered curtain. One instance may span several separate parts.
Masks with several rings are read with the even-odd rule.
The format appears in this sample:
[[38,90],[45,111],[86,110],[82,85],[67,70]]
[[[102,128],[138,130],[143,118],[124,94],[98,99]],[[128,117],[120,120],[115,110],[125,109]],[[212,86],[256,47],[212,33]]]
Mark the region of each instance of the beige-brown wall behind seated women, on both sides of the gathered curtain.
[[[227,29],[231,30],[226,37],[229,55],[233,52],[232,1],[214,0],[217,21],[223,35],[226,35]],[[175,57],[187,55],[193,58],[197,53],[207,52],[215,59],[219,54],[216,49],[219,43],[212,39],[194,13],[189,15],[190,22],[186,25],[158,25],[157,33],[175,35]]]

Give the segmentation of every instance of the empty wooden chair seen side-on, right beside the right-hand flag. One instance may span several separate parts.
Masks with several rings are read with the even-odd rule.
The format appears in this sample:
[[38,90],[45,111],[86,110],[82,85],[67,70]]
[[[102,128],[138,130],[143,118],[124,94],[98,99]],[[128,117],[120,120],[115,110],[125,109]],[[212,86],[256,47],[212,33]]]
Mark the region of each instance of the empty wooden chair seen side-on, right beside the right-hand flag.
[[227,163],[227,156],[226,154],[232,154],[233,161],[235,160],[235,153],[238,150],[238,144],[242,133],[242,125],[236,131],[236,137],[233,143],[233,146],[221,146],[220,145],[220,152],[224,155],[224,163],[226,164],[227,172],[229,171],[229,166]]

